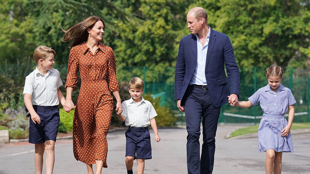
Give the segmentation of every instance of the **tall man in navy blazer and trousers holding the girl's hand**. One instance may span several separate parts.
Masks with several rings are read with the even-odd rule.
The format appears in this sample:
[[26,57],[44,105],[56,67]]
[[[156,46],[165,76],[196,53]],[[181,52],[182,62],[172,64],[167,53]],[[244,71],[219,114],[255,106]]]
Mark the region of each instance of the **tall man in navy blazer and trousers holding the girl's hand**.
[[210,28],[207,18],[201,7],[188,12],[191,34],[181,39],[175,66],[175,100],[179,110],[185,111],[187,168],[191,174],[212,173],[221,106],[240,96],[240,74],[231,41],[226,34]]

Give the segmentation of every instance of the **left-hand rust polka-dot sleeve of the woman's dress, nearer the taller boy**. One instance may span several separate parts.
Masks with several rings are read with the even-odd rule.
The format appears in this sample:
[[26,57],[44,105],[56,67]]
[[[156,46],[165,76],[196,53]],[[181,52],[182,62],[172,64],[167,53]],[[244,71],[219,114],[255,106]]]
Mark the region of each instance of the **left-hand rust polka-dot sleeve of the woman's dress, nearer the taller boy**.
[[79,54],[77,53],[76,47],[70,50],[67,80],[64,88],[71,87],[75,88],[78,83],[78,66],[79,66]]

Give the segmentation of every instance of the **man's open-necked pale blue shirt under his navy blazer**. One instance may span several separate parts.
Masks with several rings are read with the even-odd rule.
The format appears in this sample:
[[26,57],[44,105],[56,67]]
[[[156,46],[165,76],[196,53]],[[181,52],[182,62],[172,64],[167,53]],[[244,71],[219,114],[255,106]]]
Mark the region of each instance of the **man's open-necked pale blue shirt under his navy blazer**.
[[195,71],[193,73],[193,76],[190,81],[190,85],[196,84],[196,85],[207,85],[206,80],[206,58],[207,58],[207,50],[209,45],[209,39],[210,39],[210,27],[209,33],[206,38],[205,45],[202,46],[201,42],[199,41],[199,37],[197,34],[195,36],[197,37],[197,64],[195,67]]

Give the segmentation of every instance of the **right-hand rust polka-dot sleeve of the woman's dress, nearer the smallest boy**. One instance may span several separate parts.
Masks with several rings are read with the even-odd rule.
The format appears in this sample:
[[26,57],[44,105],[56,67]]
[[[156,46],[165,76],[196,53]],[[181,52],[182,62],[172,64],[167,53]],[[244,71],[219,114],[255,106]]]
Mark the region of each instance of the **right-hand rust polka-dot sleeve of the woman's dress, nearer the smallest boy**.
[[109,48],[107,51],[108,54],[108,67],[107,67],[107,83],[108,89],[111,92],[118,91],[119,86],[116,78],[116,62],[115,55],[112,48]]

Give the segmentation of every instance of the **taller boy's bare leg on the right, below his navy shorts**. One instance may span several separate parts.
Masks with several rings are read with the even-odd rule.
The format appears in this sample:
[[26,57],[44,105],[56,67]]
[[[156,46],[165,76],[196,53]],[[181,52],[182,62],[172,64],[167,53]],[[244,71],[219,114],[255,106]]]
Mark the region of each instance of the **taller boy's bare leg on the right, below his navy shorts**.
[[45,153],[46,153],[46,173],[52,174],[55,163],[55,141],[45,141]]

